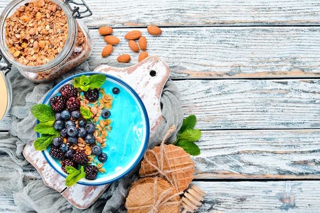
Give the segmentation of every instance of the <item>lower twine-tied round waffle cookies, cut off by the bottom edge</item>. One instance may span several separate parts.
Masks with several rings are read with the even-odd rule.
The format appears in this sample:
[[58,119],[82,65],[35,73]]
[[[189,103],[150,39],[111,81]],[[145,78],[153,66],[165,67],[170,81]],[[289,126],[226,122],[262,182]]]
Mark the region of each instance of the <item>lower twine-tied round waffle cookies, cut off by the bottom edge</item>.
[[178,213],[180,195],[166,180],[141,178],[132,183],[126,198],[128,213]]

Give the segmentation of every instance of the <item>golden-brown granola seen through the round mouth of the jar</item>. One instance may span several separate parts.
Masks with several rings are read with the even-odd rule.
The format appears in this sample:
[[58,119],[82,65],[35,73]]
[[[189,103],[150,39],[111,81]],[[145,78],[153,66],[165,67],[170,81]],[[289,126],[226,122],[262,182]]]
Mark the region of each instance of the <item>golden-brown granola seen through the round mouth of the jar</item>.
[[64,11],[48,0],[36,0],[20,6],[6,18],[5,28],[6,44],[11,54],[27,66],[53,60],[68,36]]

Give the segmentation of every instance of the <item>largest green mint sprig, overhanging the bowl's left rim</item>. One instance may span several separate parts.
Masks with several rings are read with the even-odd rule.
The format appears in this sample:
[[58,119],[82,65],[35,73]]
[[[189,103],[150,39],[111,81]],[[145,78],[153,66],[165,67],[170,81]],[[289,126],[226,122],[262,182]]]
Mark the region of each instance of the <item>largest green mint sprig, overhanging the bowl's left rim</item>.
[[60,136],[60,132],[53,127],[55,112],[49,105],[35,104],[31,108],[31,114],[39,120],[33,130],[40,134],[40,137],[33,142],[33,146],[35,150],[43,151],[52,143],[54,138]]

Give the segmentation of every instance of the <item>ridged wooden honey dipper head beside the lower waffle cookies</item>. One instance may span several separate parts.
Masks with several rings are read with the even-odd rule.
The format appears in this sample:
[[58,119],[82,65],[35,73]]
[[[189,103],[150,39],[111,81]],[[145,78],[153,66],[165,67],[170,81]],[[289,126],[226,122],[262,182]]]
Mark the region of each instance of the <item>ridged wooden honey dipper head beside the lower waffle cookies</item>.
[[203,197],[205,196],[205,192],[203,192],[200,188],[196,187],[196,185],[192,185],[187,192],[182,196],[182,211],[181,213],[194,212],[199,206],[202,204]]

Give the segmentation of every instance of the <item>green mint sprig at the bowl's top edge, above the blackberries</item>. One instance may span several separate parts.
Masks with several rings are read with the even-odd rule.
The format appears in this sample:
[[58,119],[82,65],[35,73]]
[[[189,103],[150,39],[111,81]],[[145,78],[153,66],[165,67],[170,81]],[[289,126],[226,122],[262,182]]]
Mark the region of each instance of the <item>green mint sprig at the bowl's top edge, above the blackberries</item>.
[[88,91],[88,89],[93,90],[100,88],[106,80],[106,75],[104,74],[94,74],[91,76],[81,75],[80,77],[74,78],[74,87],[80,88],[83,91]]

